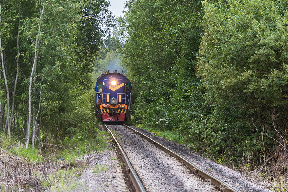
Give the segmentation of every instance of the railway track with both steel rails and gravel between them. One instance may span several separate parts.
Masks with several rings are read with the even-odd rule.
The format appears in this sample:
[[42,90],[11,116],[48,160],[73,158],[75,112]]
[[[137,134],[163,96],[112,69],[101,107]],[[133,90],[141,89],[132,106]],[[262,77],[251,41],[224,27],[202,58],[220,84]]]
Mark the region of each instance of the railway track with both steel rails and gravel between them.
[[[117,144],[119,148],[119,153],[121,154],[121,157],[126,166],[126,171],[127,171],[126,175],[129,175],[136,191],[146,191],[146,190],[147,191],[165,191],[167,186],[171,187],[167,191],[175,191],[175,189],[178,189],[176,191],[179,191],[179,190],[180,191],[194,191],[195,189],[193,189],[193,187],[197,186],[199,188],[200,186],[201,189],[200,190],[198,189],[199,191],[238,192],[232,186],[228,185],[227,183],[220,180],[216,176],[213,176],[210,173],[206,172],[205,170],[202,170],[201,168],[197,167],[195,164],[185,159],[185,157],[182,157],[181,155],[161,145],[160,143],[156,142],[149,136],[146,136],[145,134],[138,132],[137,130],[123,124],[121,127],[118,126],[117,130],[120,130],[120,129],[127,130],[128,128],[132,132],[134,132],[134,134],[137,134],[141,136],[142,138],[145,138],[151,144],[153,144],[154,146],[164,151],[164,154],[162,154],[163,152],[159,151],[157,148],[155,149],[155,147],[151,146],[151,144],[149,144],[150,146],[148,144],[145,144],[147,143],[145,140],[141,141],[142,142],[141,144],[138,144],[137,143],[138,141],[137,142],[131,141],[131,140],[134,140],[134,138],[136,139],[136,136],[131,136],[130,134],[133,134],[133,133],[127,132],[126,133],[127,135],[124,135],[123,138],[121,139],[124,139],[124,137],[125,138],[129,137],[130,139],[130,140],[128,139],[126,141],[122,141],[122,144],[126,145],[125,147],[127,148],[127,151],[126,151],[126,148],[124,148],[125,151],[127,153],[131,153],[129,158],[132,159],[132,162],[130,163],[127,157],[129,155],[125,154],[124,150],[122,149],[120,143],[117,141],[117,139],[113,135],[112,131],[107,127],[106,124],[105,126],[107,130],[110,132],[110,134],[112,135],[115,143]],[[112,130],[113,129],[115,130],[115,128],[112,127]],[[140,148],[141,153],[143,151],[144,154],[140,154],[139,152],[137,152],[137,150],[139,151],[139,149],[130,149],[130,147],[137,147],[137,145],[139,145],[138,147]],[[132,152],[128,152],[128,151],[132,151]],[[139,157],[137,155],[139,155]],[[171,158],[171,156],[175,157],[177,160],[175,158]],[[145,164],[143,164],[143,162],[140,163],[141,165],[139,165],[139,163],[137,162],[133,164],[133,161],[137,161],[139,158],[145,159],[143,160],[145,161],[144,162]],[[171,164],[170,162],[173,162],[173,163]],[[167,166],[166,166],[166,163],[167,163]],[[183,164],[186,167],[183,167]],[[133,169],[133,167],[135,168],[136,171]],[[187,168],[189,169],[190,172],[188,171]],[[147,171],[147,169],[150,169],[150,170],[148,170],[148,172],[146,173],[142,173],[144,171]],[[149,172],[150,173],[153,172],[153,174],[149,176]],[[190,174],[191,172],[193,174]],[[147,180],[147,175],[148,175],[148,180]],[[153,178],[153,176],[156,177],[153,179],[153,181],[157,181],[157,182],[162,181],[162,180],[164,181],[162,183],[160,182],[160,184],[159,182],[158,183],[152,182],[151,179]],[[149,180],[149,177],[150,177],[150,180]],[[189,178],[189,180],[187,180],[187,178]],[[183,180],[184,181],[186,180],[186,183],[183,183]],[[191,183],[192,185],[190,185]]]

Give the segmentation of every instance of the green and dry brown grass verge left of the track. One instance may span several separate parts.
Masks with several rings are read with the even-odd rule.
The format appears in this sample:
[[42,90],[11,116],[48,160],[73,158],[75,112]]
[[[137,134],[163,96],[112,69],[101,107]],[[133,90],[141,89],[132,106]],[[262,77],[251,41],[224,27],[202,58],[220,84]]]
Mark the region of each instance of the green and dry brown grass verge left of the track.
[[[95,128],[97,133],[100,131]],[[41,143],[34,149],[0,134],[0,191],[67,191],[106,145],[103,138],[65,138],[65,147]]]

